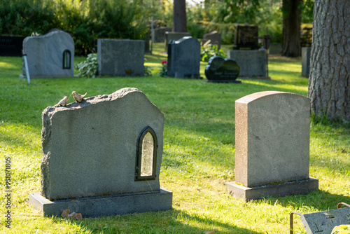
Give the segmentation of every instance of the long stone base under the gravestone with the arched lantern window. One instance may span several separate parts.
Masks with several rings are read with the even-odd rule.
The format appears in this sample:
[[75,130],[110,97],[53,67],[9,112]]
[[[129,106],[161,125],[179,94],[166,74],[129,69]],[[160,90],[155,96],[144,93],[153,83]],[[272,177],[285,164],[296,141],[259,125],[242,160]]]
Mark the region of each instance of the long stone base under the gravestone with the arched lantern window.
[[29,204],[44,216],[59,216],[64,209],[81,213],[83,218],[156,212],[172,209],[172,192],[160,188],[159,192],[106,195],[89,198],[50,201],[41,193],[30,193]]

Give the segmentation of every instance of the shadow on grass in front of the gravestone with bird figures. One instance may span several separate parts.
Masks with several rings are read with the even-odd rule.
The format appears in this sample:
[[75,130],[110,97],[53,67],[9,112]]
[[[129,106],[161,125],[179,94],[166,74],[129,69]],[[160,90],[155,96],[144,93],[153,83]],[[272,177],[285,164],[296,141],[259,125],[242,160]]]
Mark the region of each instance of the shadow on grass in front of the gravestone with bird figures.
[[[64,219],[52,218],[56,223]],[[77,226],[92,233],[204,233],[214,230],[215,233],[259,234],[253,230],[239,228],[206,217],[191,215],[181,210],[172,209],[165,212],[146,212],[71,220]]]

